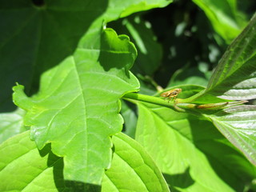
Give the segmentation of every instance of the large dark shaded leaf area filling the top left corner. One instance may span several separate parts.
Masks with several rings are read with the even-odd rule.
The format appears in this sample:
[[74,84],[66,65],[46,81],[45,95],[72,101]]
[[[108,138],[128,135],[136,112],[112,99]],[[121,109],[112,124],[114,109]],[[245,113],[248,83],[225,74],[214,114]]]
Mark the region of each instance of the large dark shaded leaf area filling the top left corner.
[[[38,91],[41,74],[74,53],[91,23],[105,12],[108,1],[30,1],[25,6],[21,4],[6,1],[2,5],[6,10],[0,22],[8,26],[2,29],[5,34],[2,38],[9,39],[0,49],[0,112],[16,108],[11,99],[11,87],[15,82],[25,86],[28,95]],[[10,11],[13,9],[15,11]]]

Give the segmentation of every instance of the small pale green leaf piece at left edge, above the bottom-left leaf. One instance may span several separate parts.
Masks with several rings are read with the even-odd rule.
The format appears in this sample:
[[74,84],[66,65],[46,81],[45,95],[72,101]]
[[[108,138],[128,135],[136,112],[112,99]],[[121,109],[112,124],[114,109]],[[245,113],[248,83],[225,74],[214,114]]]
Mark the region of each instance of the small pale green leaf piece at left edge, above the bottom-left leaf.
[[25,114],[25,111],[22,109],[17,109],[12,113],[0,114],[0,143],[6,141],[7,138],[27,130],[23,126],[23,117]]

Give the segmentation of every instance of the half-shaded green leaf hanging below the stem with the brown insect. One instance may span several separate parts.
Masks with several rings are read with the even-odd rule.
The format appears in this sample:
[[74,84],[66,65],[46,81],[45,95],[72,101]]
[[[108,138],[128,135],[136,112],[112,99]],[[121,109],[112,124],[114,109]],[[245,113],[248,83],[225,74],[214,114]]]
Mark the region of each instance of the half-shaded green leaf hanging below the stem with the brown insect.
[[138,102],[135,138],[172,190],[242,191],[256,177],[255,166],[204,118]]

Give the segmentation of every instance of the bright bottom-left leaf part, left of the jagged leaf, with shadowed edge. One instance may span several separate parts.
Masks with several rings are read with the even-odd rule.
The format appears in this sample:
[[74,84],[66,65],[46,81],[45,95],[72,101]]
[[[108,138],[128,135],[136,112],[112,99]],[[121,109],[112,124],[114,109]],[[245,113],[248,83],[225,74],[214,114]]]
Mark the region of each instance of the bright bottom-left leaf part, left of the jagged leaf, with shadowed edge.
[[[0,190],[64,190],[62,158],[52,154],[49,145],[39,152],[29,134],[29,131],[18,134],[0,145]],[[58,181],[53,173],[58,175]]]

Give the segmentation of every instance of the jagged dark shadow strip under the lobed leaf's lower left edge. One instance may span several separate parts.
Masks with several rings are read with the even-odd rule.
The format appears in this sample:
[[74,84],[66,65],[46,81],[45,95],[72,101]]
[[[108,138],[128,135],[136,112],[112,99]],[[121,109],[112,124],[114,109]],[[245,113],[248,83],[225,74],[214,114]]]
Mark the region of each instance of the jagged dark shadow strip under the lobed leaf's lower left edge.
[[47,144],[42,150],[39,150],[42,157],[48,154],[47,166],[53,166],[54,171],[54,183],[58,191],[74,191],[74,192],[100,192],[101,186],[93,185],[90,183],[68,181],[64,179],[63,169],[64,162],[63,158],[60,158],[52,153],[50,144]]

